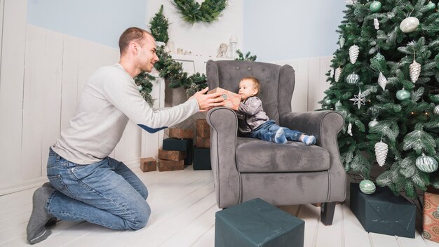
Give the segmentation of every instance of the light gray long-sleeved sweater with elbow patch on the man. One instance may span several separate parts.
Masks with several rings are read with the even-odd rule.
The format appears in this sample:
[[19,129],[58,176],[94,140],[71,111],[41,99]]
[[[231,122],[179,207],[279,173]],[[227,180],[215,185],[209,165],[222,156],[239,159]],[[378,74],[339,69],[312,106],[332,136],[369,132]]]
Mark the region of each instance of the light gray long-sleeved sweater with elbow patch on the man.
[[101,67],[90,76],[69,128],[61,132],[52,149],[74,163],[96,163],[111,154],[128,119],[154,133],[198,111],[194,98],[175,107],[152,109],[122,65]]

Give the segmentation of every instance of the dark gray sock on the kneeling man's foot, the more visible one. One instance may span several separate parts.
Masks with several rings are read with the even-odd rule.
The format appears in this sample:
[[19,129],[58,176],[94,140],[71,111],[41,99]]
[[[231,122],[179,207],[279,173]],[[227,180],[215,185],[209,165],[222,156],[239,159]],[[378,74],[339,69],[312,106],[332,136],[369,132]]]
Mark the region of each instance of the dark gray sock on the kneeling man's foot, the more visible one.
[[47,239],[52,233],[49,229],[46,229],[45,225],[53,218],[52,215],[46,212],[46,201],[53,192],[55,192],[55,189],[50,187],[40,187],[34,192],[32,198],[34,207],[26,228],[27,241],[30,244],[39,243]]

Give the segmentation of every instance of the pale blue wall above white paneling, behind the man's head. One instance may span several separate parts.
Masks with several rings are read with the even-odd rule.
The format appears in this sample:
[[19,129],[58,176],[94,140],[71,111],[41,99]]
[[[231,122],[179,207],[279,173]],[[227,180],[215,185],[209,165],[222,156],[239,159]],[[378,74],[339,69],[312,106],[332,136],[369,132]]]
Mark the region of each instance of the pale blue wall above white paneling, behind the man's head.
[[118,48],[128,27],[147,26],[147,0],[29,0],[31,25]]

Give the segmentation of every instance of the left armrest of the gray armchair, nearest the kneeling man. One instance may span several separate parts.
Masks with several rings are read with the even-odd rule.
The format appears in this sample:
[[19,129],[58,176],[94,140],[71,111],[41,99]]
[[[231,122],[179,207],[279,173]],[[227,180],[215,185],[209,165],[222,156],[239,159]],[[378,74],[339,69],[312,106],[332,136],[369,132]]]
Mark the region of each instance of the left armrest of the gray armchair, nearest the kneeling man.
[[219,208],[241,201],[241,175],[236,168],[236,135],[238,118],[227,107],[210,109],[206,116],[210,125],[210,163]]

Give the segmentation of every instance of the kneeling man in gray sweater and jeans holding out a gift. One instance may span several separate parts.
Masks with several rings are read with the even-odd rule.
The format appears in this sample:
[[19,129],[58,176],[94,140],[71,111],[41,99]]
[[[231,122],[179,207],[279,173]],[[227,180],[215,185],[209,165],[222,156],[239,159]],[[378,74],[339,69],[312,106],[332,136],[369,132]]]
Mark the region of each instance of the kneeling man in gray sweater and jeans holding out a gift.
[[147,224],[151,210],[147,187],[120,161],[108,157],[121,139],[128,119],[149,133],[184,121],[196,112],[224,105],[208,88],[187,102],[154,111],[144,101],[134,77],[151,72],[158,61],[154,37],[130,27],[119,39],[121,59],[90,76],[70,126],[50,147],[50,184],[36,189],[27,225],[27,241],[50,235],[53,219],[86,220],[112,229],[136,230]]

